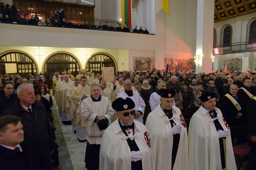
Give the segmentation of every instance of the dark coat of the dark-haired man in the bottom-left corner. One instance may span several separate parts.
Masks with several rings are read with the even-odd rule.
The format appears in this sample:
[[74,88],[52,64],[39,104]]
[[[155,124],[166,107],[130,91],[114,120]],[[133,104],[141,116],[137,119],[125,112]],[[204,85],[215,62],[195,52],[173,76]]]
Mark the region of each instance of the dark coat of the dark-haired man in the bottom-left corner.
[[39,156],[32,146],[20,143],[23,152],[17,152],[0,145],[0,169],[40,170]]

